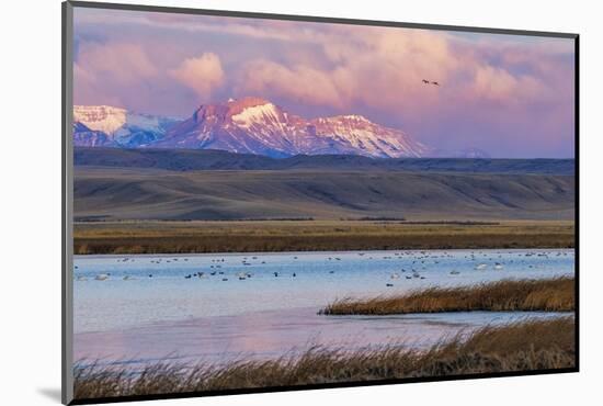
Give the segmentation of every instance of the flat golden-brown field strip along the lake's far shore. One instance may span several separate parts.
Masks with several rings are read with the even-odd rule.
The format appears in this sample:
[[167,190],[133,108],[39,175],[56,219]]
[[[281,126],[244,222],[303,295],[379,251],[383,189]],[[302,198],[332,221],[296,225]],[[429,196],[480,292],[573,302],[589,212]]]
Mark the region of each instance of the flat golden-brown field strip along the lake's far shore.
[[193,221],[75,225],[76,253],[572,248],[573,222]]

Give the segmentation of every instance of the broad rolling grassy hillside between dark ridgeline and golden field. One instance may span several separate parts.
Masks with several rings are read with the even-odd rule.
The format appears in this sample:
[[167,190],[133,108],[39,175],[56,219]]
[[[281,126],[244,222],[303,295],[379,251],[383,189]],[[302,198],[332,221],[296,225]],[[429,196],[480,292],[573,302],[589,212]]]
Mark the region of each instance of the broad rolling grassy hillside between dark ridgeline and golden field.
[[76,167],[76,219],[571,219],[571,176]]

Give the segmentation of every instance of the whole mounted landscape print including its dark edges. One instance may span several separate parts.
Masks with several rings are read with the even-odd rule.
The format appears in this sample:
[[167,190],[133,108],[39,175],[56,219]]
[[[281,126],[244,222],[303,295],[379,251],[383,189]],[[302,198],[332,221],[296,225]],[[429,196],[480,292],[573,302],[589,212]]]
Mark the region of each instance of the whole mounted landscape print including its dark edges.
[[578,371],[578,35],[64,3],[64,403]]

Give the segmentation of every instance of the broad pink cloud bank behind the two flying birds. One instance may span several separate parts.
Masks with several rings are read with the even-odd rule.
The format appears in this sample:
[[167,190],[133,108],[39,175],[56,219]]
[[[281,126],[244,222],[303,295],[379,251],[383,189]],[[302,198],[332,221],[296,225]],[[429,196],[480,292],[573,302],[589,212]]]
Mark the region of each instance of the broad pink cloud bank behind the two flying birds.
[[[412,116],[433,109],[547,101],[555,98],[550,89],[559,79],[558,64],[547,61],[547,55],[535,57],[533,48],[524,45],[475,44],[443,32],[357,26],[314,33],[306,29],[300,36],[312,38],[322,57],[305,52],[283,54],[278,63],[266,58],[248,63],[238,91],[334,109],[362,104]],[[531,71],[514,71],[516,64],[527,64]],[[422,79],[442,86],[424,86]]]

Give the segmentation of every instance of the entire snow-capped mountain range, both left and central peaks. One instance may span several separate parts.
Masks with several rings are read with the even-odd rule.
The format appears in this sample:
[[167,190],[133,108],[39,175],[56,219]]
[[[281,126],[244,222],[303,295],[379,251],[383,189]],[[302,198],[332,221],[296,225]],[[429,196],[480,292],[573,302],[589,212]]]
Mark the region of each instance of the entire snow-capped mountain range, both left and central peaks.
[[362,115],[306,120],[259,98],[204,104],[187,119],[136,114],[111,106],[76,106],[79,146],[221,149],[271,157],[363,155],[422,157],[429,148],[400,129]]

